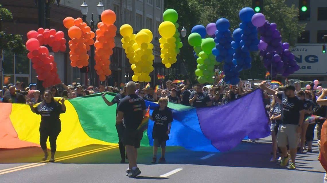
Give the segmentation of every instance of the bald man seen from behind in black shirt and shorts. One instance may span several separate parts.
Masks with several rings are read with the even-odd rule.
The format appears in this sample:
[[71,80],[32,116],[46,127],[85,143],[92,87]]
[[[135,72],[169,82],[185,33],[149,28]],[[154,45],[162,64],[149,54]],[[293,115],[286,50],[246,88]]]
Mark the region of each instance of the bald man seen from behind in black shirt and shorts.
[[126,175],[136,177],[141,174],[137,167],[137,149],[140,148],[143,132],[137,130],[140,126],[145,114],[146,106],[142,97],[135,94],[136,85],[133,81],[129,81],[126,86],[127,95],[118,105],[117,123],[121,123],[124,119],[125,132],[123,135],[123,143],[129,159],[129,167]]

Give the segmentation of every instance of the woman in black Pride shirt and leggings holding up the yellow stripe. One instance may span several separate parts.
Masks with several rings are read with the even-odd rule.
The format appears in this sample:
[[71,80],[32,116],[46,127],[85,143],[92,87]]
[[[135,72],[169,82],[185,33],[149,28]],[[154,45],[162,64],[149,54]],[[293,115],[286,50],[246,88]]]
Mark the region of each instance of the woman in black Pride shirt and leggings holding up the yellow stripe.
[[60,100],[61,104],[54,100],[51,91],[45,91],[43,95],[44,101],[38,106],[34,107],[30,103],[32,112],[41,115],[40,123],[40,145],[44,152],[43,161],[48,158],[48,151],[46,148],[46,141],[49,137],[51,148],[51,159],[49,162],[55,161],[55,152],[57,149],[57,137],[61,131],[60,114],[66,112],[65,99]]

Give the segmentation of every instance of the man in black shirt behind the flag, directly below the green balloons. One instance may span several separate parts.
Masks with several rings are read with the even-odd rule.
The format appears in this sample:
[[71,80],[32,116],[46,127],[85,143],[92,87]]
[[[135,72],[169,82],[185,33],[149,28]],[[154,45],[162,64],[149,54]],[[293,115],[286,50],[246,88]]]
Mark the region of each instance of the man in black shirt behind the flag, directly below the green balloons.
[[191,93],[189,103],[193,103],[193,107],[211,106],[211,99],[206,92],[202,91],[200,84],[197,84],[196,92]]

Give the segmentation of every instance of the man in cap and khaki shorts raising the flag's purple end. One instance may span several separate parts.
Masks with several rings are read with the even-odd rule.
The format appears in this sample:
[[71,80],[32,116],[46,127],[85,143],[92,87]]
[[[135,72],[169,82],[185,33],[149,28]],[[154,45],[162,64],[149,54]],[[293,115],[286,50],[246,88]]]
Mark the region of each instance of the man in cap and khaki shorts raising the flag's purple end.
[[[262,90],[269,94],[277,95],[278,102],[282,104],[282,120],[277,133],[277,145],[283,152],[281,166],[286,166],[291,158],[291,169],[296,169],[295,157],[300,141],[301,126],[304,121],[304,103],[295,95],[295,87],[287,84],[284,91],[276,92],[264,84],[260,84]],[[290,153],[287,153],[286,145],[289,145]]]

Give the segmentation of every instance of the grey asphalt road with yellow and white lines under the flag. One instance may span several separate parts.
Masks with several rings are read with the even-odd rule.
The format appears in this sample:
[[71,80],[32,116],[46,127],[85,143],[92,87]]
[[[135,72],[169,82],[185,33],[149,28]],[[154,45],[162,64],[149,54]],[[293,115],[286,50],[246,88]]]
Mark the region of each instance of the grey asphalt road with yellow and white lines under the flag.
[[141,147],[138,163],[142,174],[137,178],[125,176],[128,164],[119,163],[119,150],[115,147],[92,145],[57,152],[54,163],[40,162],[43,155],[39,148],[0,149],[0,183],[323,182],[325,171],[317,161],[317,143],[314,152],[297,156],[297,170],[269,162],[270,143],[270,137],[256,143],[243,141],[224,153],[167,147],[165,164],[151,164],[152,148]]

